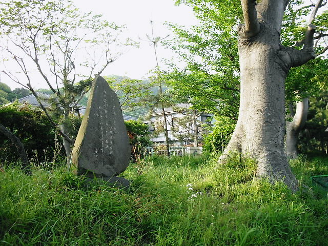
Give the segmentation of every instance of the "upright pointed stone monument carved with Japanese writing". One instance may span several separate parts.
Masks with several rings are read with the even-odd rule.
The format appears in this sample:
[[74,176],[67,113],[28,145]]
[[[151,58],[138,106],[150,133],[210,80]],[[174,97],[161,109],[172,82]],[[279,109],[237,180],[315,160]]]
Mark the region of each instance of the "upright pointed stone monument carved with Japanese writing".
[[86,113],[72,152],[71,170],[112,177],[129,165],[131,148],[118,97],[103,77],[93,81]]

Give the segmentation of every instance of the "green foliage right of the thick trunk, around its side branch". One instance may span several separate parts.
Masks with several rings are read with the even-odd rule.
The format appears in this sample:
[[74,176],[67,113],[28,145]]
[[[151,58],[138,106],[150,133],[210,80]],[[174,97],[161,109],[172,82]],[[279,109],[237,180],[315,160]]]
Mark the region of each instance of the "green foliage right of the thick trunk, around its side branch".
[[[304,16],[308,16],[315,4],[305,4],[304,1],[293,0],[289,2],[282,23],[281,40],[285,46],[300,48],[303,45],[306,28]],[[302,98],[316,96],[323,89],[327,61],[320,56],[325,52],[326,36],[328,30],[328,12],[324,11],[316,16],[313,24],[317,26],[314,36],[314,49],[317,58],[308,61],[301,67],[292,68],[286,78],[286,101],[300,101]],[[321,80],[321,82],[320,82]],[[320,86],[321,83],[321,86]]]

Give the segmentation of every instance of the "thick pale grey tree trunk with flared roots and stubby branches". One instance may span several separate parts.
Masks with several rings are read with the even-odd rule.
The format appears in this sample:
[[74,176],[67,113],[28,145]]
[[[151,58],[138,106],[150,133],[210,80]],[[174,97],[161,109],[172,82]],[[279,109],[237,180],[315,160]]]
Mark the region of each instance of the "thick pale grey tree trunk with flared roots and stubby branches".
[[257,160],[256,176],[283,180],[293,191],[298,183],[284,153],[284,81],[291,67],[315,57],[314,26],[302,50],[280,42],[286,0],[241,0],[245,24],[238,27],[240,108],[236,128],[219,162],[234,152]]

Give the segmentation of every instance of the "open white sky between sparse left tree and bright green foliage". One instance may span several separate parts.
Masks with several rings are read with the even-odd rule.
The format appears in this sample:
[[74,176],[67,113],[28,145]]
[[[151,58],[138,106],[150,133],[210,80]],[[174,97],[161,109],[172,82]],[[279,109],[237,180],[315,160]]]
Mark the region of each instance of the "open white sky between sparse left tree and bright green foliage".
[[[83,12],[101,13],[104,18],[118,25],[126,25],[128,36],[140,42],[140,48],[129,48],[127,53],[110,64],[102,75],[126,75],[134,79],[147,78],[154,69],[154,51],[147,40],[151,34],[150,20],[153,20],[155,35],[165,37],[170,32],[164,22],[191,26],[196,24],[192,9],[175,6],[174,0],[74,0],[74,5]],[[171,58],[172,52],[158,47],[158,58]],[[160,65],[163,65],[162,63]]]

